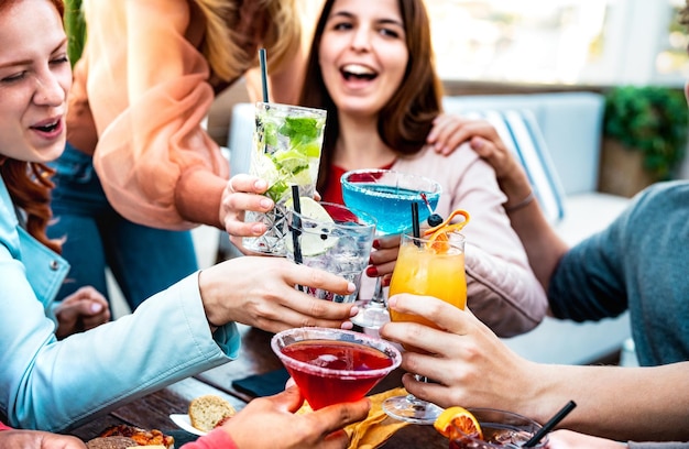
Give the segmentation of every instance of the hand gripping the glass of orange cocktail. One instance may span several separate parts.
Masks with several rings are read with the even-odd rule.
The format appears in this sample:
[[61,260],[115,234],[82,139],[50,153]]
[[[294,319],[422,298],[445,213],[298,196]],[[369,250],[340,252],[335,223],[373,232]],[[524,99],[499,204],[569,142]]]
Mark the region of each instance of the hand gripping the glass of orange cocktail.
[[435,324],[390,322],[381,328],[383,338],[418,349],[403,353],[403,369],[434,380],[425,383],[405,374],[409,393],[441,407],[499,407],[538,416],[543,397],[533,385],[543,366],[517,355],[470,310],[411,294],[391,296],[389,306]]

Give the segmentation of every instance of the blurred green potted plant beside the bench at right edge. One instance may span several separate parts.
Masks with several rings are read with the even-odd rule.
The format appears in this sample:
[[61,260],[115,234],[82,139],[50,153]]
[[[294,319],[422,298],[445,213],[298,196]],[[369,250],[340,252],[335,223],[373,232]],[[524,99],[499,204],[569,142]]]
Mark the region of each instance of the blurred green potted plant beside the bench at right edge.
[[[648,184],[670,179],[685,158],[688,121],[679,88],[620,86],[606,91],[599,188],[632,196]],[[624,153],[636,156],[641,173],[631,173]]]

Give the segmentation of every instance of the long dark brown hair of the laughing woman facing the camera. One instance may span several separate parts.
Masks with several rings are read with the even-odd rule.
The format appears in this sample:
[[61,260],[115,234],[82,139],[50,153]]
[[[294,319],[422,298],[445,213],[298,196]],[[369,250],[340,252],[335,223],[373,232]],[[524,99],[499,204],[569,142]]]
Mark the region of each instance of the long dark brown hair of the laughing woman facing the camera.
[[[299,101],[303,106],[328,111],[317,184],[321,191],[327,185],[340,132],[337,108],[326,89],[318,63],[318,48],[333,3],[335,0],[326,1],[318,19]],[[442,85],[434,68],[430,22],[423,0],[398,0],[398,4],[409,61],[400,88],[379,114],[378,132],[393,151],[408,155],[419,152],[426,144],[433,120],[441,112]]]

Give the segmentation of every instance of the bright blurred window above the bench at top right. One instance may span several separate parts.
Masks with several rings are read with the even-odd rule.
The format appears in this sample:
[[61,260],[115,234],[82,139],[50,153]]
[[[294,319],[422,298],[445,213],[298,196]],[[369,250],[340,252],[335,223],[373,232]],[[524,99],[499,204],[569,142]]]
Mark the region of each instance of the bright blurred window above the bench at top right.
[[682,84],[683,0],[426,0],[444,79]]

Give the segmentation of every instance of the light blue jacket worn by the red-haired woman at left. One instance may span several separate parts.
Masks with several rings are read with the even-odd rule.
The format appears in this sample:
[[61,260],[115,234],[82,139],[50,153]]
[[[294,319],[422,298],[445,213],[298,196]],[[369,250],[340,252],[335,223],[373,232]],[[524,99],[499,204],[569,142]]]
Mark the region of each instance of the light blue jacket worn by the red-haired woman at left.
[[46,310],[67,270],[21,229],[0,177],[0,415],[11,426],[63,431],[237,357],[234,324],[210,332],[198,273],[58,341]]

